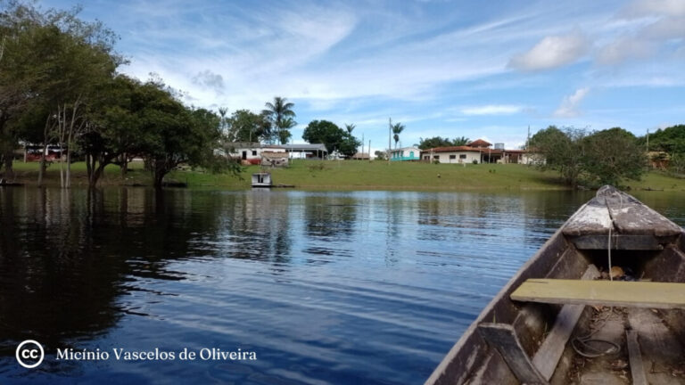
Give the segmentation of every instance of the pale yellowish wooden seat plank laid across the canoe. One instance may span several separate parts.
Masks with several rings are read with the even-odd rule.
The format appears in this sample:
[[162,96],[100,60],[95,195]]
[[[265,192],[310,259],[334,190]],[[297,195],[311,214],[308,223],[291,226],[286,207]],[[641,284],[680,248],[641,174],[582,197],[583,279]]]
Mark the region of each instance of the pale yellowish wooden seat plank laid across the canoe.
[[554,304],[685,308],[685,283],[528,279],[510,298]]

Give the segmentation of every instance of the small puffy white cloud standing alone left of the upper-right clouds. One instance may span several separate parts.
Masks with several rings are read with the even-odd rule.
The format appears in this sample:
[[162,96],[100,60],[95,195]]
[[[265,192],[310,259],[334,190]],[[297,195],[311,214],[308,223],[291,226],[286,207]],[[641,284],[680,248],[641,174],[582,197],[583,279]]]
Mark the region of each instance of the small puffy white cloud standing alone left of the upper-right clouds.
[[577,61],[588,52],[590,42],[580,33],[543,38],[529,51],[511,58],[509,68],[550,70]]

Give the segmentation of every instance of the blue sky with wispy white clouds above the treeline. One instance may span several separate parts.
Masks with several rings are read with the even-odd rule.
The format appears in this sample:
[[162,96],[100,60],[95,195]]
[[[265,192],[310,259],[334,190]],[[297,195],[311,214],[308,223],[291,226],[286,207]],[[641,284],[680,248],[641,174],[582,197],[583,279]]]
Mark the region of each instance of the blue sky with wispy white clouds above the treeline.
[[[69,8],[76,2],[45,1]],[[549,125],[636,135],[685,123],[685,0],[88,1],[137,78],[186,103],[261,111],[295,103],[387,147],[434,135],[516,148]],[[394,144],[393,144],[394,145]]]

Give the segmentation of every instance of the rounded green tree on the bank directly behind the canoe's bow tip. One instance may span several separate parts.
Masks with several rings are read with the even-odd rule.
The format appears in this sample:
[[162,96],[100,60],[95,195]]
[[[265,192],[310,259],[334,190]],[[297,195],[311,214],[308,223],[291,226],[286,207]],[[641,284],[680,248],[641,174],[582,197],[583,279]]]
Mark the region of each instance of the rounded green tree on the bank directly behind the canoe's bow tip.
[[618,184],[621,179],[640,180],[647,166],[644,147],[621,127],[594,132],[583,140],[583,171],[590,184]]

